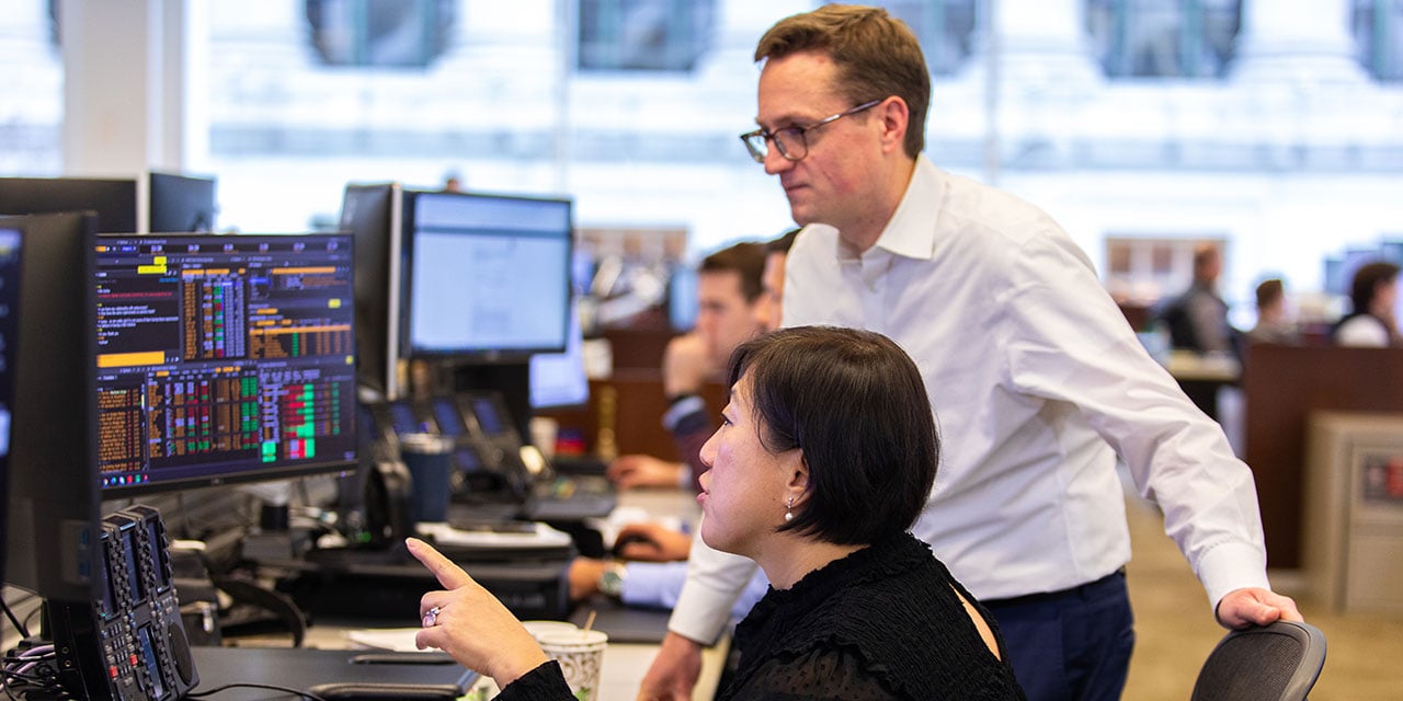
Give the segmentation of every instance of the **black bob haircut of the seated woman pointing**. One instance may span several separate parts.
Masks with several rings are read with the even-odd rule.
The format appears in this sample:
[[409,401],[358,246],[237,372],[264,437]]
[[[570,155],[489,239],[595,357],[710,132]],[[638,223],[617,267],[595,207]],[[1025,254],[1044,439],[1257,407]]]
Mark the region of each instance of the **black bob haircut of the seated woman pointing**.
[[728,384],[749,381],[760,444],[804,451],[808,494],[794,530],[866,545],[911,529],[940,463],[920,370],[890,338],[836,327],[756,336],[731,355]]

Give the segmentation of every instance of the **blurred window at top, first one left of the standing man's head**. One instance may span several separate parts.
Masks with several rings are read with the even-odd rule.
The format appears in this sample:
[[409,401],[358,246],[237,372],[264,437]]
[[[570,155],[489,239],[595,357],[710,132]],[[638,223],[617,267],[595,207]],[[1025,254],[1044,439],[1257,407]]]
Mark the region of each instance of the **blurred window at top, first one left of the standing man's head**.
[[579,0],[579,70],[693,70],[716,0]]

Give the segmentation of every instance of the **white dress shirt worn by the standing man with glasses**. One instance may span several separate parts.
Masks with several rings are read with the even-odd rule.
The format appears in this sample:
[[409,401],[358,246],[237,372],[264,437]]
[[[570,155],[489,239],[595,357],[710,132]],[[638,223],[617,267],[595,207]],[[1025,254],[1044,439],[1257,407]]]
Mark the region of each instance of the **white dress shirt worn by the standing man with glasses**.
[[[922,156],[868,251],[804,230],[783,320],[877,331],[916,360],[941,464],[912,531],[978,599],[1069,589],[1129,559],[1117,454],[1212,606],[1268,586],[1251,471],[1037,207]],[[690,558],[669,628],[709,641],[753,564],[702,538]]]

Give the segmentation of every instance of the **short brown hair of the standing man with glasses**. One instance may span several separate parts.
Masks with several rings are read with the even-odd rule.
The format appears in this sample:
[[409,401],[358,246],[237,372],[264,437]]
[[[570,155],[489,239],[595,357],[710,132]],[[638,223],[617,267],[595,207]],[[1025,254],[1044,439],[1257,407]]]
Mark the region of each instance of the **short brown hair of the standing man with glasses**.
[[770,27],[755,48],[755,60],[804,50],[826,53],[838,66],[838,93],[854,107],[897,95],[906,102],[906,156],[926,149],[930,72],[920,42],[906,22],[881,7],[826,4]]

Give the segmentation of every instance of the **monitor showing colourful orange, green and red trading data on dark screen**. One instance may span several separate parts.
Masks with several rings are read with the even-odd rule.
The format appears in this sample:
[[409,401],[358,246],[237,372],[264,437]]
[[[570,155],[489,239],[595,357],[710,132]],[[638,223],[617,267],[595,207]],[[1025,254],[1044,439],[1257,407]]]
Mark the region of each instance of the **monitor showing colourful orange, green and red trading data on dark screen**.
[[356,467],[352,238],[104,236],[105,499]]

